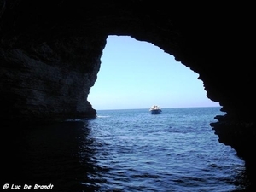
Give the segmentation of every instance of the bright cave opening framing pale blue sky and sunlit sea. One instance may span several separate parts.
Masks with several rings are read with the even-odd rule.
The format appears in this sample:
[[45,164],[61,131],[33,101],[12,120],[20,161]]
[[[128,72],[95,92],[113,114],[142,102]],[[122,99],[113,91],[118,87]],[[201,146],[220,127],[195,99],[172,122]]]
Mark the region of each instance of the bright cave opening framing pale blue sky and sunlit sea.
[[[209,125],[219,108],[195,109],[219,107],[197,78],[154,44],[108,36],[88,100],[98,112],[90,122],[96,143],[101,143],[97,166],[108,167],[101,175],[111,186],[129,189],[124,179],[133,186],[143,182],[147,189],[155,183],[170,189],[170,181],[172,187],[179,188],[181,181],[191,190],[243,188],[236,183],[243,182],[244,162],[233,148],[218,143]],[[145,108],[155,103],[166,110],[152,116]],[[119,182],[114,183],[116,177]]]

